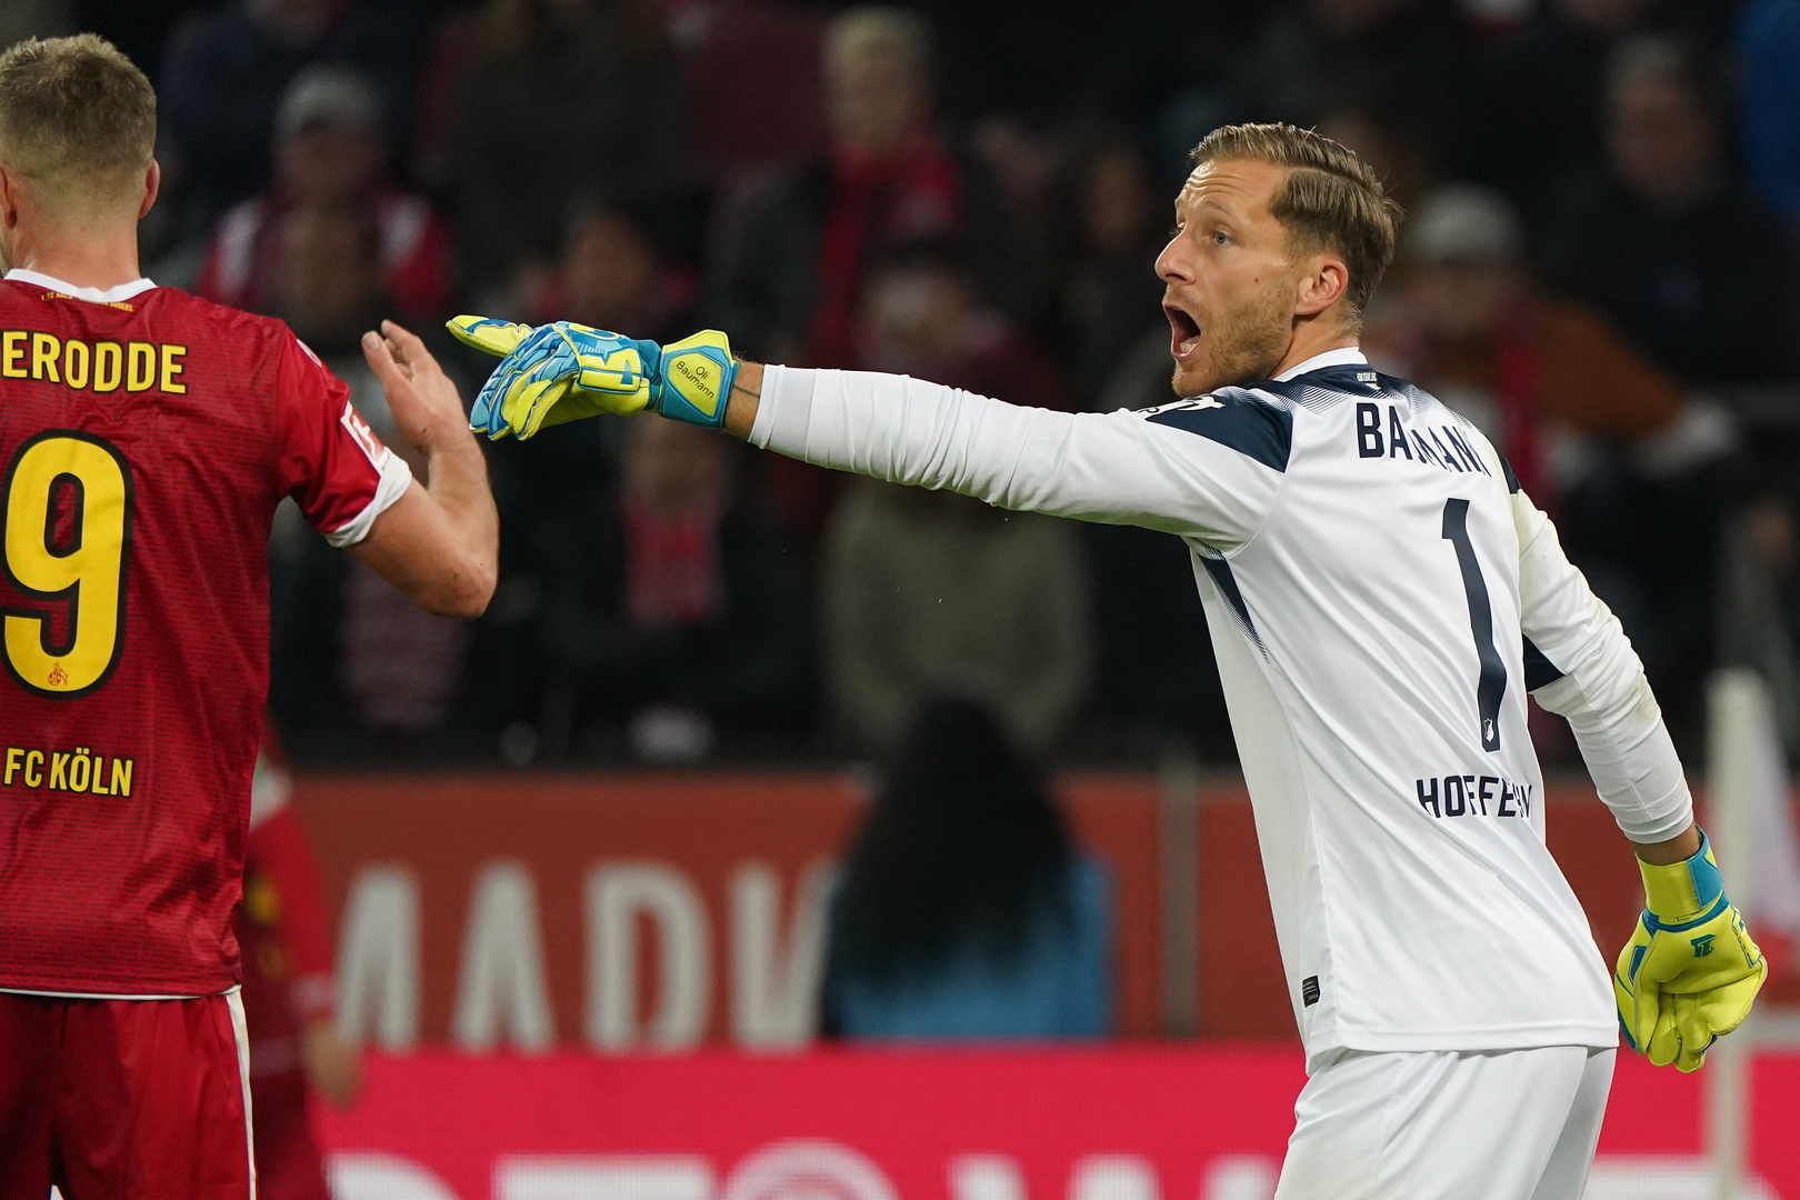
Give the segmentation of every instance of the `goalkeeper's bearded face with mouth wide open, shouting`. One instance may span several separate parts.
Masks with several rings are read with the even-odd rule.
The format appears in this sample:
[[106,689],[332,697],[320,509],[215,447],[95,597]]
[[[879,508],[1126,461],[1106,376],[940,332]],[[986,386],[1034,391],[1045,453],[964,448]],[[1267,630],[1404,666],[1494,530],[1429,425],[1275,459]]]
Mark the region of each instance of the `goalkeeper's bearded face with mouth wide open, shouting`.
[[1274,374],[1294,336],[1301,266],[1269,203],[1285,178],[1273,162],[1202,162],[1175,198],[1163,277],[1177,396]]

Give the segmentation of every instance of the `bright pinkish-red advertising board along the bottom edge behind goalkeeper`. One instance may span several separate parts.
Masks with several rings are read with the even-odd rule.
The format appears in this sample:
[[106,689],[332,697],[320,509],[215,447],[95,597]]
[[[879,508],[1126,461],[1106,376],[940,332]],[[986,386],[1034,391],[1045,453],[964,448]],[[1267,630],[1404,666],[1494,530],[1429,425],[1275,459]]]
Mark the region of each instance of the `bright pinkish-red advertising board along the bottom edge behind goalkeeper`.
[[[376,1058],[338,1200],[1267,1200],[1298,1049]],[[1703,1076],[1622,1058],[1588,1200],[1712,1195]],[[1800,1198],[1800,1056],[1742,1200]]]

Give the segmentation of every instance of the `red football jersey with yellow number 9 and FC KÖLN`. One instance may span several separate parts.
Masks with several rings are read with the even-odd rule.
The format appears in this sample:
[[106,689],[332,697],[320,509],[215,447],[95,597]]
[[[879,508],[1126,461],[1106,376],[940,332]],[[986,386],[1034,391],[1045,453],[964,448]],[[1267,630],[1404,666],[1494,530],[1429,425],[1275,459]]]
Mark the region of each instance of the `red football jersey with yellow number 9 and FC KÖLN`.
[[344,545],[410,473],[279,320],[76,291],[0,282],[0,988],[207,995],[238,982],[275,506]]

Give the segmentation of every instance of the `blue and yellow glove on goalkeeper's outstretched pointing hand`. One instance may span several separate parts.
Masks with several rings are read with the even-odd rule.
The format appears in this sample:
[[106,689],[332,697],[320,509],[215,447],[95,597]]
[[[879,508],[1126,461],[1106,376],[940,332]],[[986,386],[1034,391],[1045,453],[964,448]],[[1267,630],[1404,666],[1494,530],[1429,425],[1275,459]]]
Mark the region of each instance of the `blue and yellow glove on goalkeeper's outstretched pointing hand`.
[[650,410],[718,428],[738,374],[731,342],[715,329],[657,345],[571,320],[533,327],[457,317],[448,326],[466,345],[500,356],[470,412],[470,428],[490,439],[526,439],[603,412]]

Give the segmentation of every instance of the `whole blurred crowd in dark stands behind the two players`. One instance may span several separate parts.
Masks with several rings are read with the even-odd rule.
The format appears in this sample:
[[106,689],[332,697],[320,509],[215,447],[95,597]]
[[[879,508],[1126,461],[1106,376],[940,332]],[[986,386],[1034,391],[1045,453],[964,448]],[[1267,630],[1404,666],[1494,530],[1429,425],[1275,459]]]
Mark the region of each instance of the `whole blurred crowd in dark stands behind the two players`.
[[[1316,126],[1408,210],[1375,362],[1505,450],[1683,748],[1724,662],[1771,680],[1800,747],[1800,0],[5,13],[0,40],[85,25],[153,70],[151,275],[288,320],[376,430],[358,333],[414,326],[472,392],[488,363],[445,345],[457,311],[1161,403],[1154,261],[1188,148]],[[1172,538],[659,421],[490,464],[502,579],[473,624],[277,520],[272,705],[297,757],[884,754],[932,694],[1031,754],[1233,754]]]

